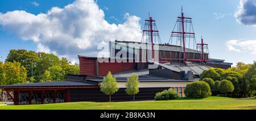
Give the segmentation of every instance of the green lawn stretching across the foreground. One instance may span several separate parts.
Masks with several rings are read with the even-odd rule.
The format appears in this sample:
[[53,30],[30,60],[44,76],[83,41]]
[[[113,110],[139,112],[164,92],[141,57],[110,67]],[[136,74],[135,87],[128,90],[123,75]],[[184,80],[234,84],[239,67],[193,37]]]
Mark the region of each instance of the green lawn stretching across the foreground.
[[179,98],[172,101],[72,102],[46,105],[0,106],[0,109],[256,109],[255,98]]

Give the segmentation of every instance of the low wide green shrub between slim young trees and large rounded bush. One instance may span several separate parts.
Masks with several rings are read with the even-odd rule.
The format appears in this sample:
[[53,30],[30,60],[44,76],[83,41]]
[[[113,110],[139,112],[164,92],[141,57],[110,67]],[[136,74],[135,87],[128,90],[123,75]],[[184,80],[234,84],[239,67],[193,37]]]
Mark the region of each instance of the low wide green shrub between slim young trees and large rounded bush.
[[155,101],[166,101],[177,98],[177,93],[171,88],[155,94]]

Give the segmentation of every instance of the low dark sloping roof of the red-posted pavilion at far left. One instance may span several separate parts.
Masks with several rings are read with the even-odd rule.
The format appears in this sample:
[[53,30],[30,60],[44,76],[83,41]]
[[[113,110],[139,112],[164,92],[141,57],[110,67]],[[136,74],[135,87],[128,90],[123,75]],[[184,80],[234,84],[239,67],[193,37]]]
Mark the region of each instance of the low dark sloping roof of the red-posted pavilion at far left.
[[40,86],[96,86],[92,82],[84,82],[84,81],[53,81],[53,82],[37,82],[30,84],[15,84],[15,85],[6,85],[1,87],[40,87]]

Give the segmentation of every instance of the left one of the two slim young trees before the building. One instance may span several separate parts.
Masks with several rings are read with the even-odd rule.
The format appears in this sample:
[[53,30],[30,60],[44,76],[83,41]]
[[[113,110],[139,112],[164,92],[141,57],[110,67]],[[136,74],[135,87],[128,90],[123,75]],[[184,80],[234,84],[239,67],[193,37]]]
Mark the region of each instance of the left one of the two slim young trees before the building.
[[111,95],[118,91],[117,81],[115,77],[109,72],[100,83],[100,88],[103,93],[109,95],[109,102],[111,102]]

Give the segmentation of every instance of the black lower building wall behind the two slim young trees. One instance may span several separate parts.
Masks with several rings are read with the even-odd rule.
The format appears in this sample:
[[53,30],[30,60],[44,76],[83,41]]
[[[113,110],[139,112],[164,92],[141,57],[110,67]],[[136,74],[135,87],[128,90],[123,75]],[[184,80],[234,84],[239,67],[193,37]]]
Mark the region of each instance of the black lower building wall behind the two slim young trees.
[[[136,101],[143,100],[153,100],[155,94],[163,91],[164,89],[169,89],[170,87],[150,87],[150,88],[140,88],[139,93],[135,95]],[[100,91],[100,89],[71,89],[70,101],[80,102],[80,101],[92,101],[92,102],[108,102],[109,95],[106,95]],[[133,101],[133,96],[127,95],[125,88],[120,88],[117,93],[112,95],[112,101]]]

